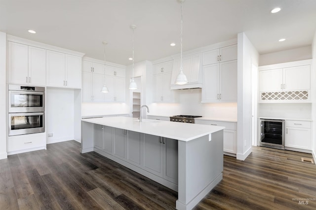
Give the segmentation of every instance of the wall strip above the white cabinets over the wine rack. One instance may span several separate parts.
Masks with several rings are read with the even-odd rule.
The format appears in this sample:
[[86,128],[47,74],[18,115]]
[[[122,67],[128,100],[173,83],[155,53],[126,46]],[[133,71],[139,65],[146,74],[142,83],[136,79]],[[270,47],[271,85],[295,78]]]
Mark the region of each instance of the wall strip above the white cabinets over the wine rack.
[[259,66],[307,59],[312,59],[311,46],[260,55]]

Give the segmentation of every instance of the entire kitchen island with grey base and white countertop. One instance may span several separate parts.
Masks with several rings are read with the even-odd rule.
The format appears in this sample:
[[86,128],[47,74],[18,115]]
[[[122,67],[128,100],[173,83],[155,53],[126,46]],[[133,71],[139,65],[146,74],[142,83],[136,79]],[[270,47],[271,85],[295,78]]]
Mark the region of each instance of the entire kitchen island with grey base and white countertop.
[[194,208],[223,179],[225,127],[110,117],[81,120],[81,153],[95,151],[178,191]]

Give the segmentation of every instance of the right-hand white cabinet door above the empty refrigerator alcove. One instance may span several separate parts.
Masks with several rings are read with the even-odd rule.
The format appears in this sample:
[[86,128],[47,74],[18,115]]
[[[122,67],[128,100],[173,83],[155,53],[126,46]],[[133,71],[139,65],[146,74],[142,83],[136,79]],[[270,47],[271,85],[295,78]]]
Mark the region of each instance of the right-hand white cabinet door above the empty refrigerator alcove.
[[81,89],[81,58],[66,54],[66,76],[65,86],[67,88]]

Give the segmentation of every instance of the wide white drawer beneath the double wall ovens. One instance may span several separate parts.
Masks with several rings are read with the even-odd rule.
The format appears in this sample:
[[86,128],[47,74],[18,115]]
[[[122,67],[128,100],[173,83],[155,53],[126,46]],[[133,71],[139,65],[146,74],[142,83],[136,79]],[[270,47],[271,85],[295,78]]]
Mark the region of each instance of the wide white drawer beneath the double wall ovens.
[[26,134],[8,137],[8,152],[27,150],[45,146],[45,133]]

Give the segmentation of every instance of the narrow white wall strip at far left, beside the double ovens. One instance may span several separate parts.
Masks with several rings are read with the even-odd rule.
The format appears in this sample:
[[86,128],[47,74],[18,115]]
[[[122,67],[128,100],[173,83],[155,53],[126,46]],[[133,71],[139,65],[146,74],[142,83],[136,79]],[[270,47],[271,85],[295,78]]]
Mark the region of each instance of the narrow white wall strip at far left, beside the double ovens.
[[0,159],[7,158],[6,152],[6,33],[0,32]]

